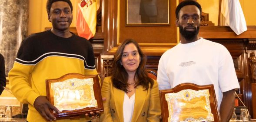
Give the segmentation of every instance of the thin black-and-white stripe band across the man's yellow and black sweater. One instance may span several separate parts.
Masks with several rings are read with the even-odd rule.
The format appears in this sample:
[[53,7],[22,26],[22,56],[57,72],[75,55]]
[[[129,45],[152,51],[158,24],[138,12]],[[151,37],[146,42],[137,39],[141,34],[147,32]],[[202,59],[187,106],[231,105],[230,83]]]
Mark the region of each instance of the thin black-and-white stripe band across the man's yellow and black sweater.
[[95,65],[94,66],[87,65],[86,60],[83,56],[76,55],[76,54],[69,54],[69,53],[58,53],[58,52],[44,53],[42,56],[39,56],[37,59],[35,59],[33,61],[24,61],[22,59],[16,58],[16,62],[23,64],[23,65],[36,65],[37,63],[39,63],[40,61],[42,61],[43,59],[45,59],[49,56],[62,56],[62,57],[81,59],[84,61],[85,69],[95,69]]

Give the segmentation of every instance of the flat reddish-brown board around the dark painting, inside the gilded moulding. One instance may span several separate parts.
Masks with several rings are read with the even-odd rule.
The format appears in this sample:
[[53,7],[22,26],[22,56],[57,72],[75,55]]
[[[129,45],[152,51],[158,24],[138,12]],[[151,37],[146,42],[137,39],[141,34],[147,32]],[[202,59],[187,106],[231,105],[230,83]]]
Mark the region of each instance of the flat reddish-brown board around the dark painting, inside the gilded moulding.
[[[162,0],[163,1],[163,0]],[[176,1],[169,0],[170,25],[167,26],[126,26],[126,0],[120,0],[119,43],[127,38],[138,43],[176,43],[175,8]],[[143,38],[141,38],[143,37]],[[117,41],[118,41],[117,40]],[[143,44],[142,44],[143,45]]]

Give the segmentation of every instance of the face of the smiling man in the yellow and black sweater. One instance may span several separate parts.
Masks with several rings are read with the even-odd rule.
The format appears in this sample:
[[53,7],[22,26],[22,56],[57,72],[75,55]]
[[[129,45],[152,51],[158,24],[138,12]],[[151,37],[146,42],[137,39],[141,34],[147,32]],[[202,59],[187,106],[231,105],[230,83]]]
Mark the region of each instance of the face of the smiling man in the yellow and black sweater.
[[64,1],[54,2],[48,14],[48,20],[52,23],[54,30],[67,30],[73,20],[73,15],[68,3]]

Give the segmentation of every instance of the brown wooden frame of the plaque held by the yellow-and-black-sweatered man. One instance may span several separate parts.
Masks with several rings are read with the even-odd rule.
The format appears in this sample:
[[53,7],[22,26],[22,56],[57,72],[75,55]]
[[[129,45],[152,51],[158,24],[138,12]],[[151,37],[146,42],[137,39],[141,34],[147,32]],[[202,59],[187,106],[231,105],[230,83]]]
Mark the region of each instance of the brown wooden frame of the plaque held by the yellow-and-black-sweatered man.
[[92,86],[93,86],[94,97],[96,99],[96,104],[97,104],[96,107],[86,107],[83,109],[75,109],[75,110],[63,110],[59,114],[57,114],[57,112],[53,112],[53,110],[50,109],[50,112],[56,118],[60,118],[60,117],[78,116],[78,115],[82,115],[82,114],[86,114],[86,113],[90,113],[90,112],[96,112],[96,111],[100,111],[100,112],[104,111],[98,75],[84,76],[79,73],[69,73],[69,74],[61,76],[60,78],[57,78],[57,79],[47,79],[46,80],[47,99],[54,105],[54,98],[53,98],[54,92],[53,92],[53,89],[51,89],[52,83],[63,82],[68,79],[91,79],[91,78],[93,79]]

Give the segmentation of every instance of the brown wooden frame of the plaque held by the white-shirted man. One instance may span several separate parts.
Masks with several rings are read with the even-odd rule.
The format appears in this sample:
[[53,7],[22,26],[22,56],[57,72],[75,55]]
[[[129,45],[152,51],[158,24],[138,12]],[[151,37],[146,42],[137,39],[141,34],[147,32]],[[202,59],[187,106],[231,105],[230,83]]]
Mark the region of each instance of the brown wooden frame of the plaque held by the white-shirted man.
[[192,89],[195,91],[208,89],[209,104],[210,104],[211,113],[213,114],[214,122],[220,122],[220,115],[218,111],[218,104],[216,100],[214,86],[213,85],[199,86],[193,83],[182,83],[174,87],[173,89],[160,90],[160,102],[161,102],[163,122],[168,122],[168,117],[169,117],[168,103],[166,101],[165,95],[167,93],[177,93],[184,89]]

